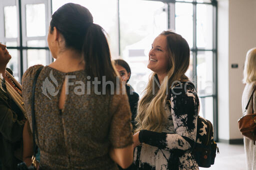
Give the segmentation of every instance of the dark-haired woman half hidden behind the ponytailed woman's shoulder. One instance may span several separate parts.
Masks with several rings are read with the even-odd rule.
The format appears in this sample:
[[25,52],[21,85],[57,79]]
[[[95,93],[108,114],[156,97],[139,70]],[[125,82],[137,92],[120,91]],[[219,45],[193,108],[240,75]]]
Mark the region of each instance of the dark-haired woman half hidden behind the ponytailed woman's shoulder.
[[128,95],[130,104],[131,124],[132,129],[134,130],[136,127],[135,117],[137,114],[138,94],[134,92],[133,88],[129,84],[127,84],[131,74],[130,67],[128,63],[121,59],[114,60],[114,65],[120,75],[121,80],[125,83],[126,93]]

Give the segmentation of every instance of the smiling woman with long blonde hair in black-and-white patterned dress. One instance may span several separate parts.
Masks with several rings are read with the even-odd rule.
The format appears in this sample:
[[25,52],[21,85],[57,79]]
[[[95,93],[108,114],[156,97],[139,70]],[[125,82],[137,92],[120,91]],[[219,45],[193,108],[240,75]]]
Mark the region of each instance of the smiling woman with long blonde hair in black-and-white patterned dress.
[[137,170],[198,170],[190,150],[199,100],[185,76],[188,65],[189,46],[179,34],[163,31],[154,39],[147,65],[154,73],[138,103],[133,135]]

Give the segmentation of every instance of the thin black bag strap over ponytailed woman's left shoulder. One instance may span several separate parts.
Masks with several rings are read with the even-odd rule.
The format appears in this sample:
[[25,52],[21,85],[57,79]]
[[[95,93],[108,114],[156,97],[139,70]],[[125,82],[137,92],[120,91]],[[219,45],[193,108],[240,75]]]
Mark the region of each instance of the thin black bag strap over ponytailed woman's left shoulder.
[[43,67],[40,67],[34,76],[34,80],[33,80],[33,86],[32,86],[32,100],[31,100],[31,117],[32,117],[32,135],[33,135],[33,156],[35,157],[36,154],[36,144],[35,144],[35,118],[34,118],[34,92],[35,92],[35,85],[36,85],[36,80],[39,76],[39,73],[41,72]]

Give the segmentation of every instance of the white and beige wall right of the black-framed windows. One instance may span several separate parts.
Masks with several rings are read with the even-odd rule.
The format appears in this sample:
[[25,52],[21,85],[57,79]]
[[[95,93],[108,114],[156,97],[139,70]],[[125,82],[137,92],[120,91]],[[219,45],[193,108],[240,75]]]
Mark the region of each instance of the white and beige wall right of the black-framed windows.
[[[245,54],[252,47],[256,47],[256,0],[219,0],[219,139],[232,140],[242,138],[237,127],[237,120],[242,115],[241,95],[244,85],[241,80]],[[238,64],[238,68],[231,68],[233,63]],[[227,69],[228,72],[226,72]]]

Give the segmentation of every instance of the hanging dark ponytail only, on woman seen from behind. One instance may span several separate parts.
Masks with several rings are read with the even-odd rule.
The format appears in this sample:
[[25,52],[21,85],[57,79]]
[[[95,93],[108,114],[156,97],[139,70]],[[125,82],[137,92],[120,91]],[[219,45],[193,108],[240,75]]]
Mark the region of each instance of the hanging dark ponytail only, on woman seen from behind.
[[84,38],[82,47],[85,62],[85,71],[92,78],[97,77],[102,81],[105,76],[106,81],[116,81],[116,72],[111,63],[110,50],[103,28],[91,23]]

